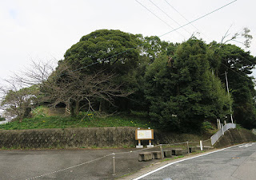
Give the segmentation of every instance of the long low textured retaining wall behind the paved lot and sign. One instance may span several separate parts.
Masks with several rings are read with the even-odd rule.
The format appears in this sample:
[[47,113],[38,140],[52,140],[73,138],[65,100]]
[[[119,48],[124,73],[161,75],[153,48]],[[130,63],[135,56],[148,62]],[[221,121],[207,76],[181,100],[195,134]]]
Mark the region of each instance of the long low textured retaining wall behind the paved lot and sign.
[[[65,129],[0,130],[0,148],[130,147],[135,146],[135,127],[80,127]],[[153,144],[202,139],[154,130]],[[148,141],[142,141],[143,145]]]

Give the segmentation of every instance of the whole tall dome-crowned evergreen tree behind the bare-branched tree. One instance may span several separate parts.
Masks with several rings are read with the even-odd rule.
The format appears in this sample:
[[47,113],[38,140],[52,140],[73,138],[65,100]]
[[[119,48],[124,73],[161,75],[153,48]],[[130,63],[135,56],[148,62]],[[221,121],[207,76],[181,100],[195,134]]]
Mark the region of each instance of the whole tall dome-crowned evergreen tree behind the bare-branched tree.
[[[136,47],[141,44],[141,35],[112,29],[96,30],[83,36],[77,44],[68,49],[65,59],[60,61],[59,65],[66,62],[71,65],[72,70],[79,69],[88,75],[98,72],[110,73],[113,78],[109,81],[115,84],[116,91],[122,92],[121,95],[110,92],[106,96],[95,97],[91,103],[94,104],[94,109],[100,112],[127,109],[129,102],[126,102],[124,97],[137,88],[134,84],[134,69],[138,66],[141,50]],[[70,105],[73,108],[74,105]]]

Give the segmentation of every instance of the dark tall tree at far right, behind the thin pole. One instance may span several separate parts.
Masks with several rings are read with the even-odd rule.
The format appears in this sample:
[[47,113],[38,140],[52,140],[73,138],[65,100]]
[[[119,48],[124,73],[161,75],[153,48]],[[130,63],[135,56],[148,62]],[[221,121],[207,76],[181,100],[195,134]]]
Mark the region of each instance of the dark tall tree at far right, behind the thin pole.
[[223,74],[227,72],[229,88],[234,103],[232,110],[234,120],[243,127],[256,127],[254,79],[249,77],[256,65],[256,57],[250,55],[236,45],[216,45],[215,54],[221,65],[218,68],[218,76],[222,83],[226,83]]

